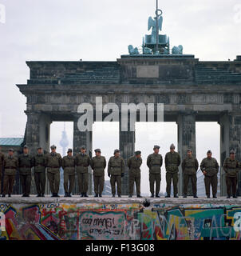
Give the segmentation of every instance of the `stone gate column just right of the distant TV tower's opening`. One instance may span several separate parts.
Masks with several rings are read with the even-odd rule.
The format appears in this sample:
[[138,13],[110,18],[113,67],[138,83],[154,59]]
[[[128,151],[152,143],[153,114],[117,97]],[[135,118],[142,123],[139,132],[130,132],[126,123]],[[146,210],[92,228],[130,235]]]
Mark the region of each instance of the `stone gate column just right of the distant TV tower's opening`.
[[[92,158],[92,131],[80,131],[77,126],[77,122],[80,116],[75,116],[73,121],[73,154],[77,154],[80,151],[82,145],[86,146],[86,153]],[[89,166],[89,186],[88,194],[92,194],[92,170]],[[77,177],[75,179],[74,193],[78,194]]]

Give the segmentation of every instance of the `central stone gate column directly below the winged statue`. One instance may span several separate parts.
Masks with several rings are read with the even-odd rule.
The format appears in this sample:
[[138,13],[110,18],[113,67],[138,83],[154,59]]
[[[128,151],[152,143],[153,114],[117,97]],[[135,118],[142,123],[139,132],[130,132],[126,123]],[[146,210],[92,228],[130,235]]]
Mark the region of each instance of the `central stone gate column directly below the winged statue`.
[[132,157],[132,155],[134,155],[135,142],[136,142],[135,131],[130,131],[129,125],[128,125],[128,131],[121,131],[121,118],[120,118],[119,145],[120,145],[121,156],[124,158],[124,162],[125,162],[124,178],[122,178],[122,184],[121,184],[121,193],[123,195],[128,195],[127,161],[128,161],[128,158],[130,158],[130,157]]

